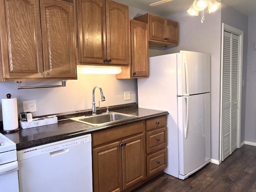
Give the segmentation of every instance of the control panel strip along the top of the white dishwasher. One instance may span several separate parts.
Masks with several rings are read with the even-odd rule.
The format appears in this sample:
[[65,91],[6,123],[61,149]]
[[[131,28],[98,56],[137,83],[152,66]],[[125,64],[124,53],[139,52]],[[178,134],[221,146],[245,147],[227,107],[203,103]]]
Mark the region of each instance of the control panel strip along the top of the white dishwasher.
[[61,140],[57,142],[52,142],[49,144],[44,144],[24,150],[19,150],[17,152],[18,161],[32,158],[34,156],[43,155],[46,153],[52,153],[60,150],[65,150],[70,147],[78,146],[81,144],[90,143],[91,145],[92,137],[91,134],[87,134],[84,136],[79,136],[71,139]]

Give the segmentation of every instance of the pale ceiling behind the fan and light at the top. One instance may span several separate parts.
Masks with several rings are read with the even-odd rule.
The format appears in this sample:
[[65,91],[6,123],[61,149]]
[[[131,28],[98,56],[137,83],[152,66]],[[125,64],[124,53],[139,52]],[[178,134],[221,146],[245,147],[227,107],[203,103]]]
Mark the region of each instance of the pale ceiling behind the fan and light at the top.
[[[167,17],[178,12],[184,12],[190,8],[193,0],[173,0],[158,6],[151,7],[149,4],[160,0],[115,0],[122,4],[130,5],[147,12]],[[217,0],[224,2],[246,16],[256,16],[256,0]]]

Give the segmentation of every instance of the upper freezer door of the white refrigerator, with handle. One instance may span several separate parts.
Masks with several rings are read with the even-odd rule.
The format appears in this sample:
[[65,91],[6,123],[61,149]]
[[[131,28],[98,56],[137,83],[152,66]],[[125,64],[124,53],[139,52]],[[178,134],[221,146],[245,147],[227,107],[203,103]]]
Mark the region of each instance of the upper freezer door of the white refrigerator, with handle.
[[178,96],[210,92],[210,55],[180,51],[177,60]]

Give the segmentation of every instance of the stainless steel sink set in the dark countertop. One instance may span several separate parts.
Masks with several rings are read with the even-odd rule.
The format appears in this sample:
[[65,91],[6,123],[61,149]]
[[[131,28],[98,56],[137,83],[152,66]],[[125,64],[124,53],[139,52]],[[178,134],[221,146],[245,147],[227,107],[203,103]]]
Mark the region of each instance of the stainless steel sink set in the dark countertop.
[[74,117],[70,119],[81,122],[81,123],[93,125],[93,126],[99,126],[99,125],[104,125],[110,122],[133,118],[133,117],[136,117],[136,116],[117,113],[117,112],[109,112],[109,113],[103,113],[98,115]]

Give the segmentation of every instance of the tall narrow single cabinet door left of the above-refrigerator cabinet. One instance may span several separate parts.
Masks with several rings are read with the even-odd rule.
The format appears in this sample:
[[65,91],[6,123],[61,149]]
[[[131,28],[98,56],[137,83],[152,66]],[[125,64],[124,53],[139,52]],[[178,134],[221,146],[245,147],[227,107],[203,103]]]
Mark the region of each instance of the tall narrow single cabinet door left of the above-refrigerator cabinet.
[[131,20],[132,77],[148,77],[148,24]]

